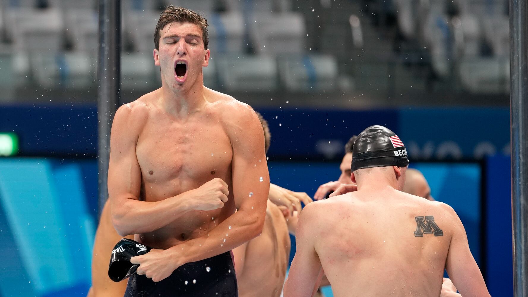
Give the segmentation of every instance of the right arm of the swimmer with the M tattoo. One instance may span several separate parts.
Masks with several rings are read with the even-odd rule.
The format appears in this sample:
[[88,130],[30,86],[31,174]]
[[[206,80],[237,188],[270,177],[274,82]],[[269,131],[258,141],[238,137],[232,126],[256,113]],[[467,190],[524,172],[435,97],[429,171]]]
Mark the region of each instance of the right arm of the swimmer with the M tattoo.
[[[437,202],[439,203],[439,202]],[[446,270],[449,278],[462,296],[489,296],[482,273],[467,242],[466,230],[456,212],[444,205],[451,219],[453,232],[447,253]]]

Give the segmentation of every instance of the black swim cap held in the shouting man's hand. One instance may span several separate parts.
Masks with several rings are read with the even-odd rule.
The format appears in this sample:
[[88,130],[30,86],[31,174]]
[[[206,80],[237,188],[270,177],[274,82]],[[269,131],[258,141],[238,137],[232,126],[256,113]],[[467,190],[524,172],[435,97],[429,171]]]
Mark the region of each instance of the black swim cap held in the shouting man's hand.
[[108,276],[110,280],[119,282],[136,272],[139,264],[130,263],[130,258],[145,255],[150,252],[150,247],[136,242],[136,240],[121,238],[112,249]]

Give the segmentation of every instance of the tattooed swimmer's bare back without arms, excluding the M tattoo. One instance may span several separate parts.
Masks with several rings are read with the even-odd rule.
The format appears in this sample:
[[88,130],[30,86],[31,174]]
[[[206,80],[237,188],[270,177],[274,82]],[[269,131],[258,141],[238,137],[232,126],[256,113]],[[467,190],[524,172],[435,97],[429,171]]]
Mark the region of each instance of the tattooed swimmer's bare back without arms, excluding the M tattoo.
[[[376,196],[346,194],[322,208],[326,229],[315,248],[334,295],[438,297],[451,218],[440,202],[396,190]],[[422,216],[433,216],[443,235],[415,236]]]

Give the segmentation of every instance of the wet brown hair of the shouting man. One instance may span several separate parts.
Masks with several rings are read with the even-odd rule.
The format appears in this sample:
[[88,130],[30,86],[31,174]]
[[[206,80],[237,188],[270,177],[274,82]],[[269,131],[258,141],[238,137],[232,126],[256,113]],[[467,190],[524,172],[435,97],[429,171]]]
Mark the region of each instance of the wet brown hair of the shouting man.
[[207,19],[199,13],[195,13],[187,8],[174,6],[169,4],[167,8],[159,15],[158,23],[156,24],[156,32],[154,32],[154,48],[159,50],[159,39],[161,38],[160,31],[170,23],[191,23],[202,29],[202,40],[205,49],[209,47],[209,32],[207,30]]

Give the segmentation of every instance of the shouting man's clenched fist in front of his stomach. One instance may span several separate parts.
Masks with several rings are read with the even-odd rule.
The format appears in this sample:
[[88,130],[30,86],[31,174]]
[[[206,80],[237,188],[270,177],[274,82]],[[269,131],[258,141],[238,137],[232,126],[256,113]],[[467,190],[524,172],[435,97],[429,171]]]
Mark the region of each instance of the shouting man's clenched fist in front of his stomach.
[[229,187],[222,179],[214,178],[189,192],[191,209],[213,210],[222,208],[228,202]]

